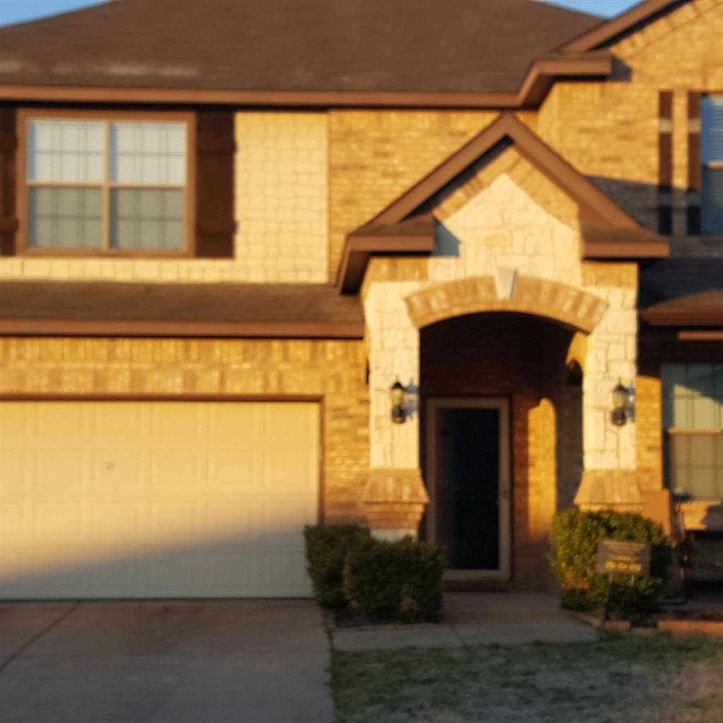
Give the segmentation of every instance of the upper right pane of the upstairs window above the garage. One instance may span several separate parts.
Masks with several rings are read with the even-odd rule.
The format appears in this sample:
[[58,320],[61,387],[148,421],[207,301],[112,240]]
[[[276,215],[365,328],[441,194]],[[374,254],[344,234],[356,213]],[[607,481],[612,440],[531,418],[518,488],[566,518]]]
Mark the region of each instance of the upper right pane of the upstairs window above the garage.
[[131,184],[184,184],[185,124],[111,124],[111,181]]

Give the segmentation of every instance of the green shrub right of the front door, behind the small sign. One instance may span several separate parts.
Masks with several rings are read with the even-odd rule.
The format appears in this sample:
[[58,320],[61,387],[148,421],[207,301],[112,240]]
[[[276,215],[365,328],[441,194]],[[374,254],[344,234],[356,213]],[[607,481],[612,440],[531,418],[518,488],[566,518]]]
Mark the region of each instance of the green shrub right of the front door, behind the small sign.
[[[605,538],[650,544],[651,576],[613,576],[611,581],[596,572],[597,543]],[[637,513],[565,510],[555,515],[552,540],[550,566],[560,583],[562,607],[615,617],[656,609],[670,561],[670,541],[658,524]]]

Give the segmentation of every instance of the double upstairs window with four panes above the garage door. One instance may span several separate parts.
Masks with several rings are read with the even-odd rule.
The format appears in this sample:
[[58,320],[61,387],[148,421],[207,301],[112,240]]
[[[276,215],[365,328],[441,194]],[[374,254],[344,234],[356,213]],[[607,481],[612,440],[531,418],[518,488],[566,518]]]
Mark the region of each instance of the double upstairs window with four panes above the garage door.
[[181,119],[28,117],[29,252],[183,254],[189,132]]

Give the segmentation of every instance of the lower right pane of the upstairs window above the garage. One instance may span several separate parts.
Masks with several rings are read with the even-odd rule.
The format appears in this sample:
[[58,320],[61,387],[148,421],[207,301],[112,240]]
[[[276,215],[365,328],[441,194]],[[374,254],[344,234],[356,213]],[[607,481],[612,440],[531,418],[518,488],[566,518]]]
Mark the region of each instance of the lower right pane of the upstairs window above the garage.
[[183,192],[176,189],[113,189],[111,247],[181,249]]

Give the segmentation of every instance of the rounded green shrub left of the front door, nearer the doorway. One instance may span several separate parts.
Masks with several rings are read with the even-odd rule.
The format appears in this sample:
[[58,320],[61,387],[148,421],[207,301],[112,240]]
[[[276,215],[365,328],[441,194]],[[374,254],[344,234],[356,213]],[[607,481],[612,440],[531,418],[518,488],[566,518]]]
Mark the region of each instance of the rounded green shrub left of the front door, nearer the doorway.
[[351,608],[372,620],[437,621],[446,566],[445,551],[435,545],[369,539],[346,555],[344,591]]

